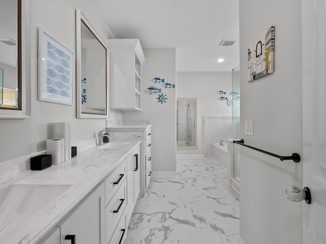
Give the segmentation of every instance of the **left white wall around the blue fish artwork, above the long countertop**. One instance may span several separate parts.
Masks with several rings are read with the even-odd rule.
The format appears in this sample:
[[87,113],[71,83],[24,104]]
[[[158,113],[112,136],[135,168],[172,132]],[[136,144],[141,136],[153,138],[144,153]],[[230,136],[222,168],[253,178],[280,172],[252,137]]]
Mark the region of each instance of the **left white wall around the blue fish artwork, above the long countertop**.
[[[103,39],[114,38],[93,1],[32,1],[32,118],[0,119],[0,163],[45,150],[45,141],[53,137],[52,123],[71,122],[72,145],[93,138],[100,126],[105,127],[104,119],[76,119],[76,105],[37,100],[38,27],[75,53],[76,9],[82,10]],[[121,117],[120,110],[111,110],[110,118]]]

